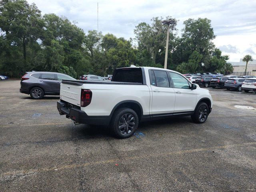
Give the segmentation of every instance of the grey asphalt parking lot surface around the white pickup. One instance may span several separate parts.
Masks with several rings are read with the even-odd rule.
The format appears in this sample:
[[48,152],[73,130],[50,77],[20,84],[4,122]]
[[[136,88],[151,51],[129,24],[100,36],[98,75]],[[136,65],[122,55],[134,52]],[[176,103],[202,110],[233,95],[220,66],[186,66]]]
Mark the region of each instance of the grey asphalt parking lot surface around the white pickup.
[[256,94],[212,89],[204,124],[146,122],[113,138],[0,82],[0,191],[256,191]]

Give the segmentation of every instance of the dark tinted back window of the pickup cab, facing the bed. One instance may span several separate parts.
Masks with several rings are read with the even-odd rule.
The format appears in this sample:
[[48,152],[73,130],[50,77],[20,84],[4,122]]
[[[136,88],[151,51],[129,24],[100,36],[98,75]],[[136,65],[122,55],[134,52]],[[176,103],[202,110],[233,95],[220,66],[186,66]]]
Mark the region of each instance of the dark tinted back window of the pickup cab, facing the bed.
[[143,83],[142,70],[141,68],[117,69],[111,81]]

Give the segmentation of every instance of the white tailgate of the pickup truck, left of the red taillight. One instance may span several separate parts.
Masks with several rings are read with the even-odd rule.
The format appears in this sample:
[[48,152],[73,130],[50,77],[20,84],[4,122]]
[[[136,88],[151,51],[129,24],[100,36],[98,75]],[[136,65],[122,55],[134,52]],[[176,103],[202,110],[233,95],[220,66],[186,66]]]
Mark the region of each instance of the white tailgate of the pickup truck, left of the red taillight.
[[61,82],[60,99],[68,103],[80,106],[82,83]]

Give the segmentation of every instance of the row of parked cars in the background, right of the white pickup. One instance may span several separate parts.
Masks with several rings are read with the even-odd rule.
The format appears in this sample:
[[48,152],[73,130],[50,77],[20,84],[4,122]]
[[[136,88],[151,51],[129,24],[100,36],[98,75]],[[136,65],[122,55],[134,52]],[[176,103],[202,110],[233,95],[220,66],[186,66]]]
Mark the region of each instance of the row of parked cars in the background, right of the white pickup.
[[200,77],[192,76],[189,78],[192,83],[198,84],[200,87],[212,88],[226,88],[227,90],[233,89],[237,91],[256,91],[256,77],[255,76],[221,76],[221,77]]

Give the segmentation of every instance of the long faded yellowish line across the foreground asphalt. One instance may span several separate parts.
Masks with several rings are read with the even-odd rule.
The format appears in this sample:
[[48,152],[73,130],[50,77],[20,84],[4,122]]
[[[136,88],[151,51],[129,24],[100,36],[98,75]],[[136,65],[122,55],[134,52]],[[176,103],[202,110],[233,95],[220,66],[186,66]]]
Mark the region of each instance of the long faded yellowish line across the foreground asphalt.
[[243,143],[243,144],[231,144],[231,145],[224,145],[224,146],[215,146],[215,147],[209,147],[209,148],[197,148],[197,149],[190,149],[190,150],[180,150],[180,151],[160,153],[160,154],[146,154],[146,155],[142,155],[142,156],[131,156],[131,157],[127,157],[127,158],[122,158],[121,160],[119,160],[119,159],[109,159],[109,160],[105,160],[105,161],[88,162],[88,163],[84,163],[84,164],[72,164],[72,165],[64,165],[64,166],[59,166],[59,167],[56,166],[56,167],[50,167],[50,168],[38,168],[38,169],[30,169],[30,170],[9,171],[9,172],[5,172],[5,173],[1,174],[0,180],[6,180],[9,177],[24,176],[24,175],[34,174],[34,173],[38,173],[38,172],[58,171],[58,170],[63,170],[63,169],[72,169],[72,168],[86,167],[86,166],[98,165],[98,164],[109,164],[109,163],[114,163],[114,162],[121,164],[122,162],[126,162],[127,160],[133,160],[133,159],[181,155],[181,154],[188,154],[188,153],[194,153],[194,152],[204,152],[204,151],[212,151],[212,150],[218,150],[218,149],[242,147],[242,146],[251,146],[251,145],[256,145],[256,142],[249,142],[249,143]]

